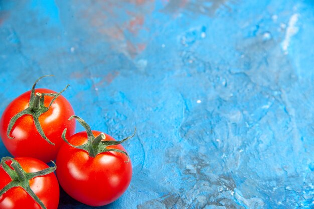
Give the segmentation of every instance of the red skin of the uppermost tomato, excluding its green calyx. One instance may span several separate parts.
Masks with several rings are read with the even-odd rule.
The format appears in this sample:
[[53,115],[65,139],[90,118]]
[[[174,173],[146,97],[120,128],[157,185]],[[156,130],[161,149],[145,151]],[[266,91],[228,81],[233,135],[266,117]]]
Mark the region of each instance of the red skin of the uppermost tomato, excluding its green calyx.
[[[35,93],[37,92],[56,93],[49,89],[36,89]],[[5,147],[14,157],[33,157],[43,162],[49,162],[56,159],[61,145],[65,143],[61,138],[63,130],[67,128],[67,136],[74,134],[75,121],[68,120],[70,116],[74,115],[74,111],[66,98],[60,95],[49,110],[39,116],[45,135],[55,143],[55,146],[41,137],[31,115],[24,115],[16,121],[11,131],[14,139],[10,139],[7,137],[9,122],[14,115],[28,107],[30,95],[31,91],[27,91],[7,106],[0,120],[0,135]],[[46,107],[51,100],[52,97],[45,96]]]

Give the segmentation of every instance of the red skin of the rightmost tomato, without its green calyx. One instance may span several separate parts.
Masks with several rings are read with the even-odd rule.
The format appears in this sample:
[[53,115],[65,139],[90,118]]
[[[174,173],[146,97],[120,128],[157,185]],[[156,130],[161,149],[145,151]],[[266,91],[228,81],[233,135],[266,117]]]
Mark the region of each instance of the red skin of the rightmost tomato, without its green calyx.
[[[101,133],[92,132],[94,136]],[[105,135],[105,140],[115,140]],[[76,133],[69,142],[76,146],[85,144],[86,132]],[[121,144],[108,148],[125,151]],[[61,187],[72,198],[90,206],[103,206],[118,199],[128,188],[132,164],[131,161],[125,162],[127,159],[117,152],[104,152],[93,158],[84,150],[64,144],[57,156],[56,173]]]

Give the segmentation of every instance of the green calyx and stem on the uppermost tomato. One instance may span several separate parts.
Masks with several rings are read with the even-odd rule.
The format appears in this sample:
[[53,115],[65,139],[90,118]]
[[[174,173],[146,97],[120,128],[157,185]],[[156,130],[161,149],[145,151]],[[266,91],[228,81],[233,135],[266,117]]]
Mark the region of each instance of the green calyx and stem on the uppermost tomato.
[[[47,76],[53,76],[53,75],[47,75]],[[43,113],[47,112],[49,108],[51,107],[52,103],[69,87],[67,85],[62,91],[59,93],[36,93],[35,94],[35,87],[37,82],[47,76],[42,76],[39,79],[35,81],[35,83],[32,86],[31,89],[31,96],[30,96],[30,101],[29,101],[29,107],[26,108],[25,110],[22,110],[21,112],[17,113],[15,116],[13,116],[9,122],[8,128],[7,128],[7,137],[10,139],[13,139],[14,137],[10,136],[10,133],[12,131],[12,128],[16,121],[22,117],[23,115],[31,115],[34,120],[35,127],[38,131],[38,133],[41,135],[45,141],[47,141],[51,145],[55,145],[53,142],[51,142],[45,135],[40,122],[39,122],[39,116],[41,116]],[[53,97],[51,102],[49,103],[48,107],[44,106],[44,100],[45,96]]]

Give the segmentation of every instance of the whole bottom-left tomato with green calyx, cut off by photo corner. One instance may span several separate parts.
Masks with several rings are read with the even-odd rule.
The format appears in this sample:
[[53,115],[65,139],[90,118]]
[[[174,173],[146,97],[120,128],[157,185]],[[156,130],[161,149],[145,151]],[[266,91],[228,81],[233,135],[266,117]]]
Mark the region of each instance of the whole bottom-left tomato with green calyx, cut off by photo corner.
[[[13,162],[16,163],[15,166]],[[4,168],[4,163],[7,165],[6,168]],[[17,174],[12,174],[17,167],[23,170],[22,174],[18,174],[20,179],[17,178]],[[46,163],[35,158],[2,158],[2,163],[0,164],[0,192],[10,183],[21,183],[22,186],[29,184],[31,191],[28,192],[27,189],[20,186],[10,188],[0,195],[0,208],[57,209],[59,204],[59,184],[56,175],[53,173],[54,170],[55,167],[49,167]],[[8,171],[11,172],[11,175],[8,174]],[[21,182],[19,182],[20,180]],[[32,192],[38,197],[39,203],[42,203],[43,206],[30,195]]]

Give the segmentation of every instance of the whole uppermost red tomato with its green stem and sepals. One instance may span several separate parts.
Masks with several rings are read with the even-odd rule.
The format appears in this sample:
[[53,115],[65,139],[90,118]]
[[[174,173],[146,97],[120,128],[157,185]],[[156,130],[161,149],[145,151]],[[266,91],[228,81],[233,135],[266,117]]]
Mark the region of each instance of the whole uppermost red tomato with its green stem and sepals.
[[57,93],[45,88],[35,89],[35,84],[34,89],[16,97],[6,107],[0,119],[0,136],[13,156],[49,162],[56,159],[64,143],[62,131],[66,128],[67,136],[74,134],[75,121],[68,120],[74,110],[60,95],[67,87]]

